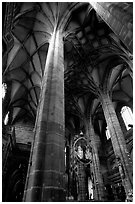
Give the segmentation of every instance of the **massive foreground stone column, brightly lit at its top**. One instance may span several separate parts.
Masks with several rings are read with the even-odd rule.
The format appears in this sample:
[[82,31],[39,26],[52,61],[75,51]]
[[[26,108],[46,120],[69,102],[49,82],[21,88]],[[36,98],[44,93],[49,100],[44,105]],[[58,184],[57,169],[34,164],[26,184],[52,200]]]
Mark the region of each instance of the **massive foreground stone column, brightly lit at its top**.
[[65,201],[63,54],[62,34],[54,30],[42,81],[25,202]]

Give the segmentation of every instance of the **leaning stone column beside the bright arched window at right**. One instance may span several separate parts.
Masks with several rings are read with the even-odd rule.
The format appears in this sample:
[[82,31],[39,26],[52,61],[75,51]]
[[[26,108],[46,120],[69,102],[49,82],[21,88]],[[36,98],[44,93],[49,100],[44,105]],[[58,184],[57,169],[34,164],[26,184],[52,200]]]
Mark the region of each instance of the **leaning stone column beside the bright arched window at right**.
[[120,175],[122,177],[125,191],[126,193],[128,193],[128,191],[133,188],[132,160],[127,150],[124,135],[121,130],[109,93],[101,92],[100,95],[104,116],[111,135],[114,153],[116,158],[119,158],[119,162],[121,162],[121,167],[123,168],[123,172],[122,168],[119,168]]

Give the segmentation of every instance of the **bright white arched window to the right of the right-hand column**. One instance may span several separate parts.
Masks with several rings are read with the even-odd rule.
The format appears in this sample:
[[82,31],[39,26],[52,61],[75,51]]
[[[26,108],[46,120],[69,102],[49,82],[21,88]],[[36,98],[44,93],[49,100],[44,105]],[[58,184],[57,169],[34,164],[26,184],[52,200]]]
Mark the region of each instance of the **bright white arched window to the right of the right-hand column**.
[[128,106],[123,106],[121,109],[121,116],[124,120],[127,130],[129,130],[133,125],[133,113]]

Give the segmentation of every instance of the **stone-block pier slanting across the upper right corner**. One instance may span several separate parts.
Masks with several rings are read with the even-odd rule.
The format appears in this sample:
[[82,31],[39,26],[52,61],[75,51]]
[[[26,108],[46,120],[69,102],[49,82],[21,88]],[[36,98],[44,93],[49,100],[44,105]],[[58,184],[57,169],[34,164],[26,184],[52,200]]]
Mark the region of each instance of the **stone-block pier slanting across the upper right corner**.
[[133,53],[133,4],[125,5],[124,2],[90,2],[90,4]]

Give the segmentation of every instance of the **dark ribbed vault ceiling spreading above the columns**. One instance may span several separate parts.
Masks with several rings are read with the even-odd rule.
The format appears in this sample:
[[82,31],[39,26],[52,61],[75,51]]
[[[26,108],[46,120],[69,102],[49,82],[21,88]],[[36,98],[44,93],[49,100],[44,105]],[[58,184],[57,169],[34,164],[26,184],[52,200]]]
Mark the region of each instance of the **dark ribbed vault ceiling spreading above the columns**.
[[[65,109],[67,125],[99,113],[99,88],[113,90],[114,102],[132,101],[129,52],[89,3],[26,2],[14,18],[14,46],[3,82],[10,84],[7,110],[11,123],[35,121],[49,41],[55,26],[64,27]],[[91,104],[93,103],[93,107]],[[91,107],[91,108],[90,108]],[[80,128],[80,127],[78,127]]]

